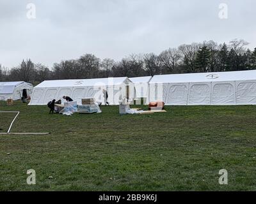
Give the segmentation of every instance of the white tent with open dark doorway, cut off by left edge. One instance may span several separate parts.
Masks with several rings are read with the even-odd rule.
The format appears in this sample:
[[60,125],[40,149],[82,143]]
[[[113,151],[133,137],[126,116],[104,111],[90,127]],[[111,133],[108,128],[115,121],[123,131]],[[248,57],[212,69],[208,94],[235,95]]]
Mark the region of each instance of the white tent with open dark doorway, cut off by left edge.
[[32,91],[33,85],[26,82],[0,82],[0,100],[28,98]]

